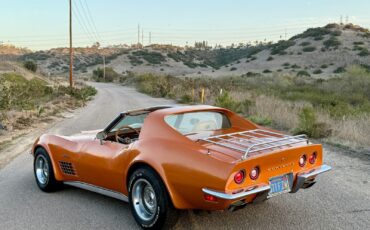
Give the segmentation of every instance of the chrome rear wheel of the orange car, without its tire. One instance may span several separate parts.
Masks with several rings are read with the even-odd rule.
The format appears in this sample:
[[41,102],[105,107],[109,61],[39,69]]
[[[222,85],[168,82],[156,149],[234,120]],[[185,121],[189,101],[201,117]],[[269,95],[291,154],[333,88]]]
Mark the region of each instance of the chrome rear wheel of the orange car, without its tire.
[[132,202],[136,214],[144,221],[154,218],[157,198],[152,185],[145,179],[138,179],[132,187]]

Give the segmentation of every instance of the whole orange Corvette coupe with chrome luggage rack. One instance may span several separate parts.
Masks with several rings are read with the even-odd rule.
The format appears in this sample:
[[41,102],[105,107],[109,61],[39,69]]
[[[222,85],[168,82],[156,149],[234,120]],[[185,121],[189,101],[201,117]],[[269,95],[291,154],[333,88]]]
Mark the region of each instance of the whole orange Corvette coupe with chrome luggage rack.
[[42,135],[32,148],[38,187],[62,184],[129,202],[142,228],[179,209],[236,210],[315,184],[329,171],[320,144],[212,106],[123,112],[104,130]]

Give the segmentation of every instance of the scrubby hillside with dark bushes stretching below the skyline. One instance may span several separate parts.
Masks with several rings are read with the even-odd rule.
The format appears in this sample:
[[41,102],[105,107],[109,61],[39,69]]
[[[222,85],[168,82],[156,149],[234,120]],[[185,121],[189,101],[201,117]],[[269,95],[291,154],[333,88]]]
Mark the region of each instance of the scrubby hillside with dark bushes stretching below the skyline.
[[[176,47],[151,45],[135,47],[87,47],[74,49],[74,70],[91,73],[108,67],[127,72],[164,73],[174,76],[229,76],[271,72],[327,77],[343,72],[346,66],[370,65],[370,32],[353,24],[328,24],[311,28],[277,43],[246,44],[212,48],[206,45]],[[35,60],[44,73],[68,71],[67,48],[27,52],[21,60]]]

